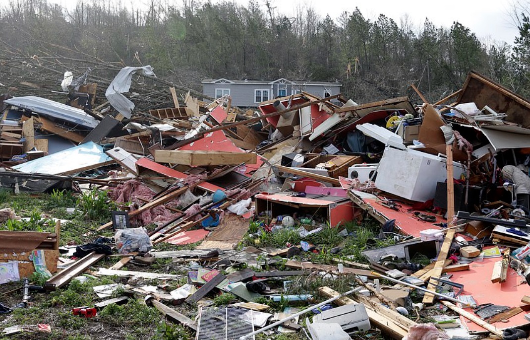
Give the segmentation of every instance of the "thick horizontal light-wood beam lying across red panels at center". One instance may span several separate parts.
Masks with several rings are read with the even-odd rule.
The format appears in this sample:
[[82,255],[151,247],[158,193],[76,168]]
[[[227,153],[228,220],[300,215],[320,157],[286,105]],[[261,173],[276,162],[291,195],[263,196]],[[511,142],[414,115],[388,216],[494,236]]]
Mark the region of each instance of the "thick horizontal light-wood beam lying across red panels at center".
[[155,150],[155,162],[183,165],[255,164],[257,154],[224,151]]

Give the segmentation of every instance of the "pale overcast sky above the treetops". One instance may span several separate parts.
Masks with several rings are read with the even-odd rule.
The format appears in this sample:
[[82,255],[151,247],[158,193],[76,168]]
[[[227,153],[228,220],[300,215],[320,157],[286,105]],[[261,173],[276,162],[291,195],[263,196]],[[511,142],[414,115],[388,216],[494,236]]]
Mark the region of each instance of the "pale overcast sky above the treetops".
[[[75,0],[49,0],[66,7],[73,7]],[[87,0],[85,0],[87,1]],[[89,2],[88,0],[87,2]],[[111,0],[112,1],[112,0]],[[117,2],[120,0],[114,0]],[[132,3],[134,7],[146,6],[152,0],[127,0],[120,1],[128,6]],[[155,3],[174,3],[181,6],[185,0],[154,0]],[[189,1],[189,0],[188,0]],[[218,0],[211,0],[213,3]],[[247,5],[248,0],[228,0],[237,4]],[[255,0],[265,8],[266,0]],[[511,19],[510,12],[513,12],[512,3],[519,1],[527,4],[530,8],[530,0],[269,0],[273,7],[280,13],[294,16],[295,8],[298,6],[311,5],[322,17],[329,14],[332,19],[346,11],[353,12],[355,7],[365,18],[377,19],[379,14],[394,19],[398,25],[404,15],[408,15],[410,21],[419,30],[422,23],[428,18],[436,27],[444,26],[450,28],[454,21],[462,23],[469,28],[482,42],[505,41],[513,45],[514,38],[518,36],[518,30]],[[8,0],[0,0],[0,3],[7,3]]]

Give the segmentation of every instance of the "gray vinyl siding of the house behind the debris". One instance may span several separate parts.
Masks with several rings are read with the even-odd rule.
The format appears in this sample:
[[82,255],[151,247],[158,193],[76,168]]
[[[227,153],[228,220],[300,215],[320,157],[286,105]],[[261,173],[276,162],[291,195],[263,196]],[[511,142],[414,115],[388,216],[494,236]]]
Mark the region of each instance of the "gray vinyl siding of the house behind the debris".
[[[257,107],[259,103],[255,102],[254,90],[269,90],[269,100],[278,97],[278,86],[281,84],[253,84],[253,83],[202,83],[202,93],[209,97],[215,98],[216,89],[230,89],[230,95],[232,96],[232,105],[238,107]],[[337,94],[340,92],[340,85],[313,85],[313,84],[296,84],[290,83],[287,85],[287,95],[297,93],[296,91],[302,90],[307,93],[314,94],[318,97],[324,97],[324,89],[331,90],[331,94]]]

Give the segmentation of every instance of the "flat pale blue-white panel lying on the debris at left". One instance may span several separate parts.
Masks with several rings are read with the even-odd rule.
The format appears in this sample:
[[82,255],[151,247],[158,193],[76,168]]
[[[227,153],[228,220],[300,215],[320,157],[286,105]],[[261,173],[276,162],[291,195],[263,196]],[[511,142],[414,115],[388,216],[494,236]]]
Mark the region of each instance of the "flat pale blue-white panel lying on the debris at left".
[[102,146],[88,142],[15,165],[13,169],[26,173],[63,175],[81,171],[80,169],[91,170],[112,163],[114,160],[105,154]]

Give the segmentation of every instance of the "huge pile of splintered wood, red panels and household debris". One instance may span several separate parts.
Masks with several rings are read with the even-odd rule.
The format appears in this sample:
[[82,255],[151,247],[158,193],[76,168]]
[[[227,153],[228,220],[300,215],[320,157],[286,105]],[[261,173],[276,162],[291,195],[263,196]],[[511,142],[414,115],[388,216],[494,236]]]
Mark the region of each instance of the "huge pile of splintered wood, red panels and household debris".
[[112,277],[73,315],[97,322],[140,298],[197,339],[527,337],[530,102],[470,73],[436,103],[302,92],[242,110],[172,89],[140,116],[124,95],[135,73],[154,77],[121,69],[107,112],[90,74],[77,107],[4,97],[2,188],[83,192],[68,214],[111,217],[66,245],[71,221],[2,210],[11,229],[53,232],[0,231],[0,283],[23,280],[0,312]]

